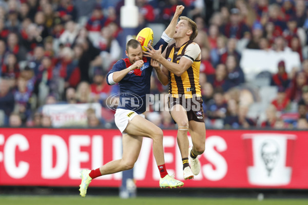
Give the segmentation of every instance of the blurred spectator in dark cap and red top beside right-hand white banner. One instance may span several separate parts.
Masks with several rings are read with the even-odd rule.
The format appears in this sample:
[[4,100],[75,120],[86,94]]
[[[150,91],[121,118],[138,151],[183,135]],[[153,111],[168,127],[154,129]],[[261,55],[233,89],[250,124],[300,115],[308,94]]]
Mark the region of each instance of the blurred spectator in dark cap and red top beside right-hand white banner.
[[278,63],[278,72],[272,75],[271,86],[279,86],[287,88],[290,84],[290,79],[288,79],[287,73],[285,71],[285,64],[283,60]]

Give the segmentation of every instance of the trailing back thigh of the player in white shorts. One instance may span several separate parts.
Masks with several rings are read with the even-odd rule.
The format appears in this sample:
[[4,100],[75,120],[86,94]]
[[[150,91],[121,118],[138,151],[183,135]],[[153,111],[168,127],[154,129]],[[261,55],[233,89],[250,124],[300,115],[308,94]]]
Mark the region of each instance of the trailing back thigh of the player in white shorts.
[[122,147],[123,154],[122,159],[128,163],[134,163],[137,161],[142,146],[142,137],[130,134],[123,134]]

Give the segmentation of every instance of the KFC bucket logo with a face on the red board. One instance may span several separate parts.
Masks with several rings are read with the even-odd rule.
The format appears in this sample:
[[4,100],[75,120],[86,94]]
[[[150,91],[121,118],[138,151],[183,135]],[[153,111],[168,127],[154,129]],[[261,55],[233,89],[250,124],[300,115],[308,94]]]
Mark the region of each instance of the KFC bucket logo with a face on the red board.
[[247,178],[251,185],[283,186],[292,179],[295,135],[244,134]]

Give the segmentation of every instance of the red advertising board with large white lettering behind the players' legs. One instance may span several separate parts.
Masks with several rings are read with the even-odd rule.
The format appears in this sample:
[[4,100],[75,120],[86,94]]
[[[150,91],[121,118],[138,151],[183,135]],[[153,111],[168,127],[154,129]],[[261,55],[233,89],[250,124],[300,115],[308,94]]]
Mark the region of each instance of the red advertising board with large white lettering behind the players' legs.
[[[164,130],[166,168],[183,178],[176,130]],[[307,131],[207,130],[201,172],[185,187],[308,189]],[[191,141],[190,141],[191,143]],[[0,130],[0,186],[76,186],[81,169],[121,158],[118,130]],[[93,187],[119,187],[122,174]],[[159,187],[152,140],[144,138],[134,167],[137,187]]]

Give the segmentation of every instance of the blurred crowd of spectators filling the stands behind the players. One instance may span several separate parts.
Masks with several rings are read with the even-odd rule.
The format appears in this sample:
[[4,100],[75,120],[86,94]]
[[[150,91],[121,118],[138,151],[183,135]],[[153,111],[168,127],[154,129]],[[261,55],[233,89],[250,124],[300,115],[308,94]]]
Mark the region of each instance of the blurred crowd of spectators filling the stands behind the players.
[[[102,117],[87,110],[88,127],[114,126],[106,98],[119,92],[106,74],[122,56],[120,8],[124,0],[0,1],[0,126],[51,127],[44,105],[100,103]],[[201,48],[200,85],[207,128],[308,129],[308,1],[136,0],[139,26],[166,26],[177,5],[195,20]],[[160,35],[155,33],[155,35]],[[285,61],[269,73],[271,96],[264,113],[252,115],[260,88],[247,86],[243,49],[290,50],[301,66]],[[167,93],[155,74],[151,93]],[[149,107],[147,119],[176,128],[167,110]],[[262,115],[263,114],[263,115]]]

